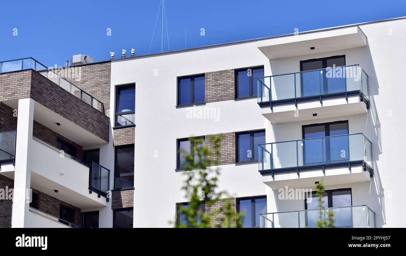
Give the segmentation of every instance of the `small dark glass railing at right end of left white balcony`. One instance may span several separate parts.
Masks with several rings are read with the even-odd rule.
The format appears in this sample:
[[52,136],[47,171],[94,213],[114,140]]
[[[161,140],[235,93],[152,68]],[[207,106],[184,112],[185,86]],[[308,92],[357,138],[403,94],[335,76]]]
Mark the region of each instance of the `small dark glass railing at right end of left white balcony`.
[[[110,170],[92,161],[92,166],[89,172],[89,193],[92,191],[100,195],[106,196],[110,190]],[[108,198],[106,199],[108,202]]]

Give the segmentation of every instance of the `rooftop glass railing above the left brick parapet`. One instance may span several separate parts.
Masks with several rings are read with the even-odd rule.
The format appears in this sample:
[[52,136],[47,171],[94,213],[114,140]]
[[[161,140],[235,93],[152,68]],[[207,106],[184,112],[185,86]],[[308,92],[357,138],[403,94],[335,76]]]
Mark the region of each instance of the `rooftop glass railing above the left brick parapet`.
[[54,71],[51,71],[50,69],[45,67],[45,65],[41,64],[34,58],[29,57],[0,62],[0,74],[29,69],[37,71],[38,73],[47,77],[49,80],[51,80],[52,82],[54,82],[67,92],[71,93],[75,97],[91,105],[93,108],[104,113],[104,104],[101,101],[91,96],[89,93],[86,93],[84,90],[80,89],[78,86],[72,84],[68,80],[64,79]]

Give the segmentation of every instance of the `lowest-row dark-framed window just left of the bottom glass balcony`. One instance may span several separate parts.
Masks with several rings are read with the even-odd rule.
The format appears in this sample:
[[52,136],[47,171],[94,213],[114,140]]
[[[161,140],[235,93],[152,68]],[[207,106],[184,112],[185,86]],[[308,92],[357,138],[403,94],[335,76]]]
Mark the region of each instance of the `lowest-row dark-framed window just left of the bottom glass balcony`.
[[266,196],[237,199],[238,212],[244,213],[245,228],[259,227],[259,214],[266,213]]

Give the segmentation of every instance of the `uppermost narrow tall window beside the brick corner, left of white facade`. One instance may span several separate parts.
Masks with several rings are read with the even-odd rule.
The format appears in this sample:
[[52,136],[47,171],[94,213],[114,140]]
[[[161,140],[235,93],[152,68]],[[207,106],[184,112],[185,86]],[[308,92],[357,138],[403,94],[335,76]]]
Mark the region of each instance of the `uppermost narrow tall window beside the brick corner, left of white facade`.
[[130,126],[135,123],[135,85],[116,88],[116,125]]

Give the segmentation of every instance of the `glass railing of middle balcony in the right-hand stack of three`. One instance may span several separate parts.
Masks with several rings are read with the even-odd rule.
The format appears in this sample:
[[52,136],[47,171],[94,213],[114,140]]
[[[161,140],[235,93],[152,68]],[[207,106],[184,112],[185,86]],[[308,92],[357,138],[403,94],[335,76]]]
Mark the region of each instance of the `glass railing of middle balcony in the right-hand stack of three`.
[[362,133],[258,145],[261,174],[364,165],[372,174],[372,143]]

